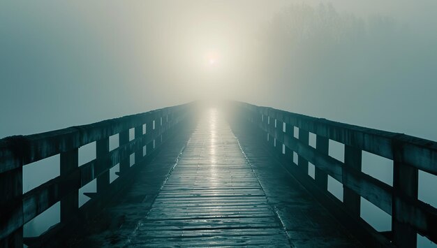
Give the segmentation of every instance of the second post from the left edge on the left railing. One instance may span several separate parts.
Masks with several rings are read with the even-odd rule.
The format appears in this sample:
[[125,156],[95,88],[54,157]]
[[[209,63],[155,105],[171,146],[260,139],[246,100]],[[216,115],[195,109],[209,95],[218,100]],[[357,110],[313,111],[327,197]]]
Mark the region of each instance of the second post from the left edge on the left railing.
[[[60,174],[61,177],[67,177],[79,166],[79,149],[71,149],[60,154]],[[71,219],[79,207],[79,191],[75,190],[71,194],[61,199],[61,222]]]

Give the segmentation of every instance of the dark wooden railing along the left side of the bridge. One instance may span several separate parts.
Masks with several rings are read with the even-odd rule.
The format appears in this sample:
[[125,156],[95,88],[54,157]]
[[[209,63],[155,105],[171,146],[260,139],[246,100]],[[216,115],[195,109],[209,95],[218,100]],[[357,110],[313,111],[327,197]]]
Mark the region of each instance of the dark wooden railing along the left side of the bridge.
[[[190,117],[193,103],[109,119],[95,124],[0,140],[0,247],[20,247],[23,226],[60,201],[60,224],[75,217],[78,190],[96,179],[96,198],[126,180],[128,172],[153,154]],[[129,140],[129,130],[135,138]],[[119,147],[109,150],[110,136],[119,134]],[[96,142],[96,159],[78,164],[78,149]],[[143,156],[143,147],[147,154]],[[135,164],[130,166],[130,155]],[[22,166],[60,155],[60,175],[23,194]],[[110,183],[110,168],[119,164],[119,177]],[[138,166],[137,166],[138,167]],[[91,196],[91,195],[89,195]]]

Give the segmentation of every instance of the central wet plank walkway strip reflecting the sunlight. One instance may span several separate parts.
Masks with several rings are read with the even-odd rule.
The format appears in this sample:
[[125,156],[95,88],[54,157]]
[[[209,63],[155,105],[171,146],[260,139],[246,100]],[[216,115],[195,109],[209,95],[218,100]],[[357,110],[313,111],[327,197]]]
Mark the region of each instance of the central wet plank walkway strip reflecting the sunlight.
[[285,228],[216,111],[202,118],[128,245],[290,247]]

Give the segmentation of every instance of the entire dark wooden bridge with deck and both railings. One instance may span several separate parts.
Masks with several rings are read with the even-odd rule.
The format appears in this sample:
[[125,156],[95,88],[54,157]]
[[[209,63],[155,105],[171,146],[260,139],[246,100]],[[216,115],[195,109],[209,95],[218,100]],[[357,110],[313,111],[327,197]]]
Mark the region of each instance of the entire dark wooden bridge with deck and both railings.
[[[329,156],[329,140],[343,158]],[[80,164],[91,143],[96,159]],[[392,160],[392,185],[362,171],[363,152]],[[23,193],[23,167],[54,155],[59,176]],[[437,175],[437,143],[249,103],[187,103],[0,140],[0,247],[416,247],[417,234],[437,242],[420,171]],[[362,219],[362,198],[390,214],[390,231]],[[59,223],[24,237],[57,203]]]

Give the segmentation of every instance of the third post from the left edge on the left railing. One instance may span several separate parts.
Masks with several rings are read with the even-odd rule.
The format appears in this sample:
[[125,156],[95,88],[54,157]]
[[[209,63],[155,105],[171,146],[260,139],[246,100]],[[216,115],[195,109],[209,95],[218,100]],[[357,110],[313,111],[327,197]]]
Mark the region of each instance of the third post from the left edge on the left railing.
[[[108,167],[108,155],[109,155],[109,137],[96,141],[96,159],[98,168]],[[97,193],[101,194],[105,191],[110,184],[110,172],[105,171],[97,177]]]

